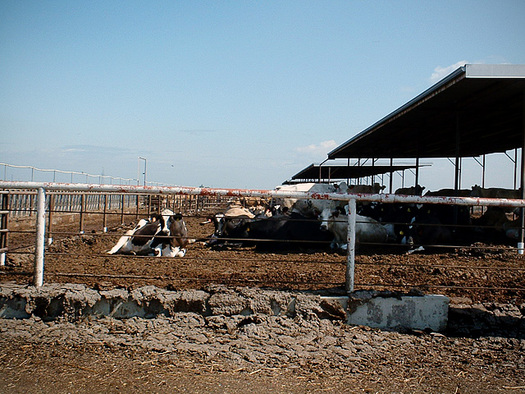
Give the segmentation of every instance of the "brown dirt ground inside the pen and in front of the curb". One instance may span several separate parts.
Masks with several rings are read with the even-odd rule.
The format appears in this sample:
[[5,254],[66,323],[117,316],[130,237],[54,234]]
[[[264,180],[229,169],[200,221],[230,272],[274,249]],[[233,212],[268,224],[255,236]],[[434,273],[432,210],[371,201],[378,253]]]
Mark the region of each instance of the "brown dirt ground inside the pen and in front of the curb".
[[[343,294],[346,256],[319,245],[299,251],[254,247],[211,250],[202,217],[186,218],[184,258],[109,256],[125,226],[86,234],[55,226],[45,282],[96,289],[206,289],[213,284]],[[91,226],[91,227],[90,227]],[[62,233],[61,233],[62,232]],[[32,234],[12,234],[1,282],[28,284]],[[444,294],[513,330],[397,333],[352,327],[317,316],[213,317],[79,321],[0,319],[3,392],[525,392],[525,261],[497,246],[406,254],[361,248],[357,289]],[[462,311],[457,309],[456,318]],[[458,315],[459,314],[459,315]],[[463,316],[464,319],[472,319]],[[498,320],[499,319],[499,320]],[[501,324],[500,324],[501,323]],[[516,328],[517,327],[517,328]]]

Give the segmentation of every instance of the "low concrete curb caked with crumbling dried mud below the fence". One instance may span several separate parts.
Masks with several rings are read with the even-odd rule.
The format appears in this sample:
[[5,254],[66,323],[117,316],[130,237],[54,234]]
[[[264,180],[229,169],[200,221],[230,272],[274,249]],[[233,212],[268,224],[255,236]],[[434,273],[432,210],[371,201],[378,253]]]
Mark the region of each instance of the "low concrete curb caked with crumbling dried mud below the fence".
[[317,317],[352,325],[394,330],[447,326],[448,299],[444,296],[357,292],[352,297],[323,297],[302,292],[210,286],[203,290],[169,291],[154,286],[135,290],[94,290],[79,284],[42,287],[0,285],[0,318],[57,318],[87,316],[154,318],[194,312],[203,316],[266,314]]

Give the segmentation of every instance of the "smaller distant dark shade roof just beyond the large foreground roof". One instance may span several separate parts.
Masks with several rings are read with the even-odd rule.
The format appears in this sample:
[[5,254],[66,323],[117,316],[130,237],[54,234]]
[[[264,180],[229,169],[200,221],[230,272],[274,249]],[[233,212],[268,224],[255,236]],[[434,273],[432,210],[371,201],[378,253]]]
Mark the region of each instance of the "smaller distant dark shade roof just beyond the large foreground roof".
[[292,177],[292,181],[356,179],[415,168],[416,166],[414,165],[343,166],[310,164],[295,174]]

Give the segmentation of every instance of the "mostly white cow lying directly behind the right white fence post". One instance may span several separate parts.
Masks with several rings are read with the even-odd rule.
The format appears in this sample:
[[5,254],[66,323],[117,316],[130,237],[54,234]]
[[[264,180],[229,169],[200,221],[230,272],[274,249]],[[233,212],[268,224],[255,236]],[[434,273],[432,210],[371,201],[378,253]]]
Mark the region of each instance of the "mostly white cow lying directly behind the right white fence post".
[[[333,235],[332,249],[346,249],[348,235],[348,218],[341,208],[336,210],[325,209],[319,215],[320,228]],[[355,226],[356,244],[384,243],[388,240],[387,230],[377,220],[367,216],[356,215]]]

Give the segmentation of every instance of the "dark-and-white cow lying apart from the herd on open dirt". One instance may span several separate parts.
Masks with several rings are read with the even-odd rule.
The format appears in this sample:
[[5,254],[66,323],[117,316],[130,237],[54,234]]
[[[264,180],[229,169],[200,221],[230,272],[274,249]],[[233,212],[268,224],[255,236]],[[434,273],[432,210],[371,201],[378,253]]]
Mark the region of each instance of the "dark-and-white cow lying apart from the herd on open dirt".
[[108,254],[183,257],[190,243],[182,215],[164,209],[160,215],[141,219],[135,228],[120,237]]

